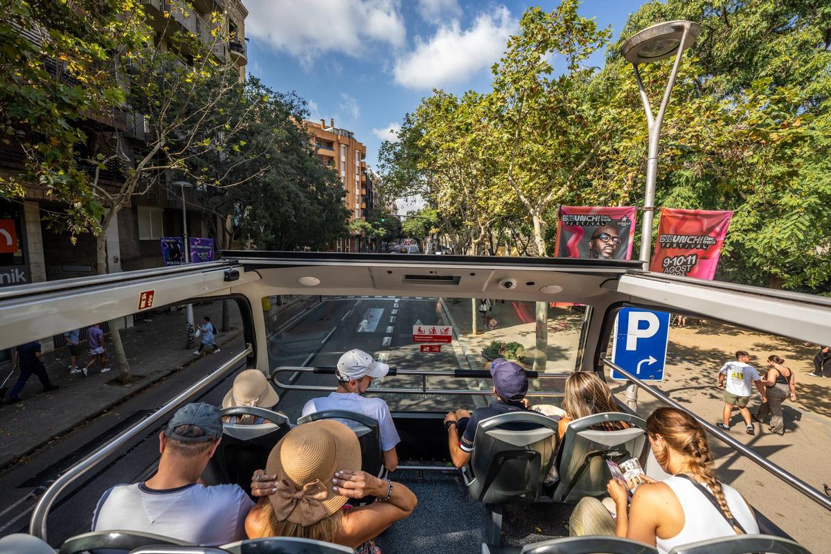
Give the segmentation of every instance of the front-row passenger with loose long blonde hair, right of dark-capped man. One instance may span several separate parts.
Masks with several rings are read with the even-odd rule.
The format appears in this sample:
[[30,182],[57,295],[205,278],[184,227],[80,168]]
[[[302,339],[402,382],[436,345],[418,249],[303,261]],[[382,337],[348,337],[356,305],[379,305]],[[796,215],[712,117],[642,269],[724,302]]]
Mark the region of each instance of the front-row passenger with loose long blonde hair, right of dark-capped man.
[[[532,409],[551,417],[559,417],[558,435],[563,439],[568,424],[574,419],[588,415],[619,412],[612,391],[608,385],[593,371],[575,371],[568,375],[563,395],[563,408],[557,406],[536,405]],[[598,425],[598,429],[615,431],[625,429],[628,425],[618,421],[607,421]]]

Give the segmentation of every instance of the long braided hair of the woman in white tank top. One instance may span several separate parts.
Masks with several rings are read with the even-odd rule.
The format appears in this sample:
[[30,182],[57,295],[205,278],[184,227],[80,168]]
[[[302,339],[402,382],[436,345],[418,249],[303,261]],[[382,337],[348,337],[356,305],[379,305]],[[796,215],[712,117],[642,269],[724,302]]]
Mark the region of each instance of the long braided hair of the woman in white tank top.
[[[721,512],[727,519],[732,519],[733,514],[727,505],[724,489],[715,477],[713,453],[701,425],[690,414],[680,409],[658,408],[647,418],[647,433],[653,440],[656,435],[661,435],[661,439],[671,449],[687,458],[691,473],[706,483],[719,503]],[[666,456],[665,449],[656,453],[655,458],[663,466],[666,463]],[[742,532],[740,528],[734,527],[734,529],[737,533]]]

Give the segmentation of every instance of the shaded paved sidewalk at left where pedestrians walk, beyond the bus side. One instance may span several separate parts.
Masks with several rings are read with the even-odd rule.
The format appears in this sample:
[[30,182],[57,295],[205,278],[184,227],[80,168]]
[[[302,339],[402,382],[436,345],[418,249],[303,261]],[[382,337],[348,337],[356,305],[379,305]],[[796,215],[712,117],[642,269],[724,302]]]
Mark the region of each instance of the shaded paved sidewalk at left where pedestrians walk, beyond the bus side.
[[[283,309],[292,306],[289,303]],[[219,332],[216,343],[228,345],[242,336],[242,321],[234,302],[230,302],[231,316],[228,332]],[[279,310],[273,310],[276,312]],[[217,329],[222,321],[222,302],[199,302],[194,304],[194,320],[201,321],[203,316],[210,316]],[[271,314],[274,315],[274,314]],[[112,368],[101,373],[97,363],[91,365],[89,376],[70,375],[69,351],[66,347],[57,348],[42,356],[47,372],[60,389],[50,393],[42,392],[42,385],[37,376],[32,375],[20,395],[21,400],[15,404],[0,406],[0,468],[23,458],[27,454],[47,444],[55,437],[65,434],[87,419],[111,409],[130,395],[153,385],[167,375],[181,370],[199,360],[194,349],[184,348],[185,311],[169,311],[168,308],[143,312],[135,318],[135,326],[120,331],[127,360],[133,372],[133,382],[129,385],[119,383],[115,351],[111,335],[106,335],[107,365]],[[199,345],[199,339],[194,339]],[[204,351],[208,351],[205,348]],[[202,354],[210,355],[210,354]],[[218,362],[224,361],[224,354],[217,356]],[[81,355],[78,365],[83,367],[90,360],[86,341],[81,342]],[[11,367],[7,367],[0,379],[5,379]],[[7,386],[11,387],[17,380],[17,370]]]

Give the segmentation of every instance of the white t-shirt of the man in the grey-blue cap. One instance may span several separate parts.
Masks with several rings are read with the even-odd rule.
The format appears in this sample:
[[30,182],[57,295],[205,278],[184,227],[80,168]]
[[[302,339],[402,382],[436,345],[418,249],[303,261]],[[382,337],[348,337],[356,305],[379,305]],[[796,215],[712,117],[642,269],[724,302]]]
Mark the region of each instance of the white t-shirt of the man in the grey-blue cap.
[[193,483],[166,490],[145,483],[116,485],[98,501],[92,531],[140,531],[220,546],[245,538],[245,516],[253,505],[238,485]]

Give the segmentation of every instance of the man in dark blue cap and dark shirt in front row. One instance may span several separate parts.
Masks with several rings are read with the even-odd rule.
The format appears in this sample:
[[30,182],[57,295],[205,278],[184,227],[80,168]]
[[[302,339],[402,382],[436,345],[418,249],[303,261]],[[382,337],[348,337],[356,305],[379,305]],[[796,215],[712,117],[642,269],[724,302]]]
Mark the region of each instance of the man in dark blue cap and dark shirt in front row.
[[479,421],[507,412],[523,411],[530,408],[525,393],[528,392],[528,375],[521,365],[504,358],[497,358],[490,365],[494,379],[496,400],[484,408],[477,408],[470,414],[466,409],[448,412],[445,416],[450,459],[457,468],[464,468],[473,453],[473,442]]

